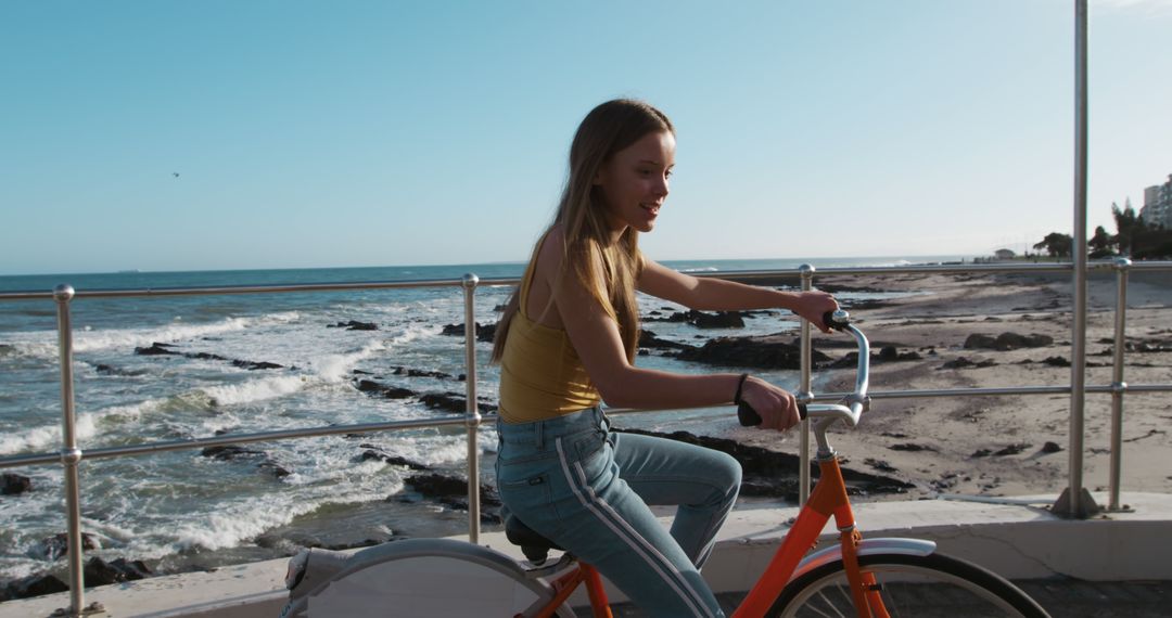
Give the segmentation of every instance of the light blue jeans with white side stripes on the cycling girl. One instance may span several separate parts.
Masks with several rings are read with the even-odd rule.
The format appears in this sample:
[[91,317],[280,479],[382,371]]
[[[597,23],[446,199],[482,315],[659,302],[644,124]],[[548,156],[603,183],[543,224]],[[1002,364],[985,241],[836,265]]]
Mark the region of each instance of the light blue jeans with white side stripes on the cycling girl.
[[[648,616],[724,616],[699,569],[741,487],[735,459],[612,432],[598,407],[497,428],[500,499],[520,521],[597,566]],[[679,504],[670,534],[648,504]]]

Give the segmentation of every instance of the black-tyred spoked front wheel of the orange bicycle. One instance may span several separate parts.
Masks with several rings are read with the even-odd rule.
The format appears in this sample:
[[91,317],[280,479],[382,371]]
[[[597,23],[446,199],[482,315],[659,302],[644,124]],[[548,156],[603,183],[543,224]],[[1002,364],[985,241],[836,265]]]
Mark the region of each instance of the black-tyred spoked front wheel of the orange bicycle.
[[[1001,576],[943,556],[875,554],[859,556],[859,570],[874,577],[877,616],[942,618],[1048,618],[1048,613]],[[884,613],[886,612],[886,613]],[[790,582],[770,609],[770,617],[858,616],[843,561],[824,564]]]

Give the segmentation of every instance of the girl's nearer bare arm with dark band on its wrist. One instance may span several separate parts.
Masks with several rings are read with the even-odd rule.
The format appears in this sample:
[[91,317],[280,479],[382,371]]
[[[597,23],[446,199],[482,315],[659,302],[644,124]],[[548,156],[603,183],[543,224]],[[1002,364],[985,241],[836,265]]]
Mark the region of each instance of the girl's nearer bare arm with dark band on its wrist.
[[[538,259],[556,260],[560,267],[558,250],[543,248]],[[557,273],[558,268],[541,270]],[[600,260],[594,272],[601,272]],[[627,360],[619,325],[573,273],[567,273],[560,282],[547,280],[547,283],[556,286],[554,303],[570,341],[608,405],[670,408],[732,401],[740,375],[689,376],[636,368]],[[741,396],[762,416],[763,428],[784,430],[798,421],[793,396],[764,380],[749,378]]]

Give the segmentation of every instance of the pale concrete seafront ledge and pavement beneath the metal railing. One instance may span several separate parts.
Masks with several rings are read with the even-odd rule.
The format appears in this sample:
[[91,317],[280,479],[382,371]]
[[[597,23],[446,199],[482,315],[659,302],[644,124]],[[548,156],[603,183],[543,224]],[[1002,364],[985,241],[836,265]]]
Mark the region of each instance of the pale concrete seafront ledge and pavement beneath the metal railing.
[[[1105,495],[1095,495],[1105,503]],[[1125,493],[1133,511],[1085,521],[1064,520],[1045,506],[1052,496],[997,504],[917,500],[856,504],[865,537],[934,541],[939,551],[968,559],[1022,588],[1055,617],[1172,616],[1172,495]],[[735,510],[704,568],[713,590],[734,606],[751,588],[784,540],[796,508],[757,506]],[[666,520],[666,519],[665,519]],[[833,526],[825,542],[836,538]],[[482,543],[519,557],[502,533]],[[277,616],[286,595],[287,559],[223,566],[214,572],[155,577],[86,591],[110,617],[253,618]],[[639,616],[609,590],[616,616]],[[585,604],[585,593],[572,599]],[[0,618],[47,617],[69,604],[68,593],[0,604]]]

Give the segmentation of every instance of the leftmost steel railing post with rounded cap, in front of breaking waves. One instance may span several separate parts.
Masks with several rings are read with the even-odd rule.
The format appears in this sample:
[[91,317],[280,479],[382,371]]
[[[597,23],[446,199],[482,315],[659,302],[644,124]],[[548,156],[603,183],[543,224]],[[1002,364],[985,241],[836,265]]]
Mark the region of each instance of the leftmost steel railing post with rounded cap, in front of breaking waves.
[[86,606],[86,582],[82,570],[81,544],[81,489],[77,481],[77,431],[74,419],[73,392],[73,325],[69,321],[69,301],[74,297],[73,286],[62,283],[53,288],[53,300],[57,303],[57,349],[61,356],[61,465],[66,478],[66,519],[68,521],[69,550],[69,610],[68,616],[82,616]]

